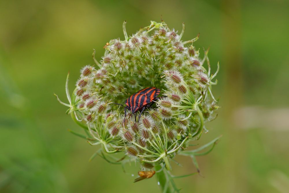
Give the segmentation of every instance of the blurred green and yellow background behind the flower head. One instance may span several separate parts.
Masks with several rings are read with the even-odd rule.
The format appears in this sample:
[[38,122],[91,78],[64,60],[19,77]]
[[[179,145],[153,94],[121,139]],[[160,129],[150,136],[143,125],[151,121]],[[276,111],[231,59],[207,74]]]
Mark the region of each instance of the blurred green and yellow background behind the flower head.
[[[158,192],[155,179],[132,183],[138,167],[111,165],[81,132],[65,101],[79,69],[103,46],[162,15],[184,39],[220,61],[218,118],[200,144],[223,134],[198,157],[201,174],[176,183],[182,192],[289,192],[289,1],[0,1],[0,192]],[[202,52],[201,52],[202,53]],[[201,54],[201,56],[203,56]],[[196,171],[188,158],[173,174]],[[134,177],[131,174],[135,174]]]

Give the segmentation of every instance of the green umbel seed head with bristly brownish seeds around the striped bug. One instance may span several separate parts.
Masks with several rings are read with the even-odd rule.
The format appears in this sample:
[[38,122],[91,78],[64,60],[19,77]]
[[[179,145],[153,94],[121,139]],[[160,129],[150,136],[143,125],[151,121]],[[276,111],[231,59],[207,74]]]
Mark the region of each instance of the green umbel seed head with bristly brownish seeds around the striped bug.
[[[208,50],[200,58],[199,50],[193,46],[199,35],[182,40],[184,24],[179,34],[163,21],[151,21],[151,25],[128,36],[125,23],[124,38],[110,40],[104,46],[101,62],[93,53],[95,66],[86,65],[80,70],[71,96],[67,77],[69,104],[58,100],[69,107],[67,113],[72,119],[89,131],[88,136],[77,135],[88,139],[91,145],[102,146],[97,155],[107,160],[105,153],[122,152],[121,161],[137,161],[142,169],[165,166],[171,170],[170,161],[177,154],[193,160],[205,154],[199,151],[207,146],[186,149],[203,131],[208,131],[204,123],[216,118],[218,102],[212,85],[217,83],[213,79],[219,65],[211,73]],[[126,106],[127,98],[147,87],[160,89],[160,95],[148,103],[141,116],[140,111],[132,114],[117,105]],[[142,107],[139,101],[135,104]],[[210,144],[214,145],[217,139]]]

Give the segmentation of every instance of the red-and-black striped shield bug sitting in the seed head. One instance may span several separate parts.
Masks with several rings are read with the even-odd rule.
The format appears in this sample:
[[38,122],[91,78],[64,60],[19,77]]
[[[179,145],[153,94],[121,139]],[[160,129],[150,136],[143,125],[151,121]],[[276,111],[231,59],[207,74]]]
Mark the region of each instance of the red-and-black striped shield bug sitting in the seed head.
[[122,104],[114,103],[121,105],[125,108],[125,117],[126,117],[126,109],[130,110],[132,114],[134,114],[134,119],[136,121],[135,113],[140,111],[138,115],[138,121],[140,121],[140,115],[144,111],[144,109],[151,107],[155,100],[157,100],[157,96],[160,94],[160,89],[155,87],[148,87],[145,89],[141,89],[131,95],[126,101],[125,104],[127,106],[123,106]]

